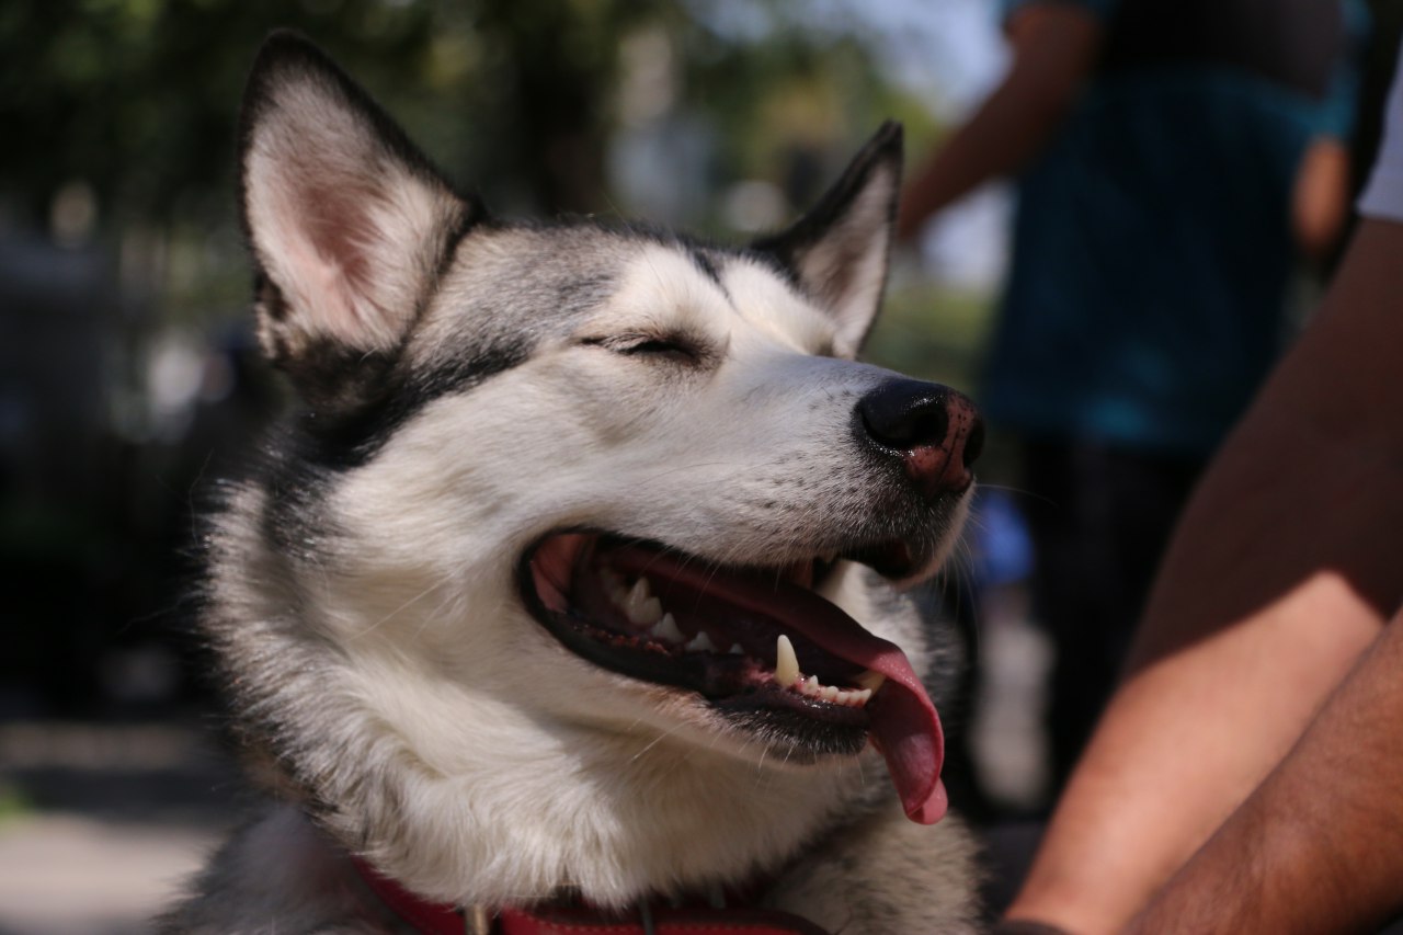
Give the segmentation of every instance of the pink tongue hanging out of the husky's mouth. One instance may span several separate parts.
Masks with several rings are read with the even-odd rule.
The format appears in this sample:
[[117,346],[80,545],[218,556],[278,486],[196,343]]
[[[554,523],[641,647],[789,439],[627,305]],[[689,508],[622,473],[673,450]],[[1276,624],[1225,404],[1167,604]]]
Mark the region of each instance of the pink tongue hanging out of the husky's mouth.
[[[634,556],[634,562],[627,560]],[[610,564],[634,566],[634,571],[645,571],[650,577],[666,576],[685,587],[720,594],[728,604],[762,614],[781,629],[803,635],[829,656],[885,675],[881,689],[867,702],[873,743],[887,758],[887,772],[906,817],[920,824],[934,824],[944,817],[948,803],[940,782],[946,755],[940,716],[901,647],[873,636],[836,605],[796,584],[718,574],[696,562],[680,564],[657,553],[633,550],[613,553]]]

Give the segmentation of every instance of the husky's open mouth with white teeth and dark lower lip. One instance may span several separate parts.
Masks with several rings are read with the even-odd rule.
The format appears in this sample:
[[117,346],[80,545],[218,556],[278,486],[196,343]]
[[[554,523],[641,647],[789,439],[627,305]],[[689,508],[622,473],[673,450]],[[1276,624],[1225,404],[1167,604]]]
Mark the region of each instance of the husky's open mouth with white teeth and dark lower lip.
[[[847,630],[866,632],[815,588],[842,560],[899,580],[922,574],[936,552],[892,541],[784,566],[735,567],[658,543],[571,531],[537,542],[519,578],[533,616],[577,656],[679,689],[745,744],[759,741],[801,764],[861,752],[868,703],[884,682],[863,664],[860,649],[845,651]],[[853,639],[853,646],[861,642]]]

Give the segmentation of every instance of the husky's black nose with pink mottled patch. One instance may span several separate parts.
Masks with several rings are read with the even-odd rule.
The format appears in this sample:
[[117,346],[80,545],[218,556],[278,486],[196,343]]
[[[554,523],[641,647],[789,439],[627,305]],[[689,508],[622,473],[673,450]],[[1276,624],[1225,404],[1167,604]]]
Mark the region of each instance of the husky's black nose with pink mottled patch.
[[960,493],[984,448],[984,421],[974,403],[940,383],[891,379],[857,402],[867,441],[899,458],[927,497]]

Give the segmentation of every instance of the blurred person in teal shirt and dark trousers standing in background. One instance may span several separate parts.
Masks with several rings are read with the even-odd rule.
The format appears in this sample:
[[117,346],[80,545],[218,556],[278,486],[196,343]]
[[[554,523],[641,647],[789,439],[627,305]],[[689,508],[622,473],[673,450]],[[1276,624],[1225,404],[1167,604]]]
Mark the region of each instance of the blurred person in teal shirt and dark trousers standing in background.
[[981,404],[1019,434],[1061,785],[1163,543],[1277,357],[1298,251],[1347,216],[1350,39],[1331,0],[1013,0],[1012,65],[899,222],[1019,175]]

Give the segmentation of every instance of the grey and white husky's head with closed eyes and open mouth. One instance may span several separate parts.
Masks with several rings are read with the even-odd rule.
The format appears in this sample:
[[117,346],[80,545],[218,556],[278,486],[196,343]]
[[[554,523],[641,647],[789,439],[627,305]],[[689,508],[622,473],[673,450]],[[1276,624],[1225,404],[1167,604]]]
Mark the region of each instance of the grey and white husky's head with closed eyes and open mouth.
[[[229,549],[258,552],[241,574],[334,658],[316,665],[337,703],[427,775],[473,776],[464,795],[487,795],[484,761],[515,764],[488,785],[525,789],[523,769],[568,760],[568,781],[627,786],[620,807],[647,813],[650,783],[661,799],[696,767],[706,797],[727,788],[716,762],[744,782],[765,764],[825,790],[791,803],[803,825],[871,738],[908,814],[940,816],[925,635],[871,584],[948,555],[981,430],[960,394],[853,361],[898,126],[744,248],[502,223],[288,35],[254,69],[241,139],[260,340],[306,410],[244,494],[257,545]],[[233,667],[257,684],[243,670],[267,664]],[[286,717],[275,733],[313,730]],[[686,752],[630,778],[654,748]]]

